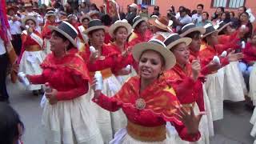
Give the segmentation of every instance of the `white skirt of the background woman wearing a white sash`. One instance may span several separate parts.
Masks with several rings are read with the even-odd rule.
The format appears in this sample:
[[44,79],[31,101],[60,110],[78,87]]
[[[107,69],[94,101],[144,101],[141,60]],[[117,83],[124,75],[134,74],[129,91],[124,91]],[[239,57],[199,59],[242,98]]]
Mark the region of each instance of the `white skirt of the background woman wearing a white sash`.
[[[37,75],[42,74],[40,64],[46,58],[46,54],[40,51],[24,51],[22,59],[19,64],[19,72],[24,74]],[[26,90],[40,90],[42,85],[30,85],[26,86]]]

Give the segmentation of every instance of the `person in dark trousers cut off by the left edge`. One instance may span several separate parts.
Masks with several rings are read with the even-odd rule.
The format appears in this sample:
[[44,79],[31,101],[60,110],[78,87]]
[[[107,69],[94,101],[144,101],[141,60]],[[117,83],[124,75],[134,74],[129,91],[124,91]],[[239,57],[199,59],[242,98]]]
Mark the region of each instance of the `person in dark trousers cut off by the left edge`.
[[[0,22],[0,27],[1,22]],[[6,90],[6,70],[8,65],[8,56],[4,41],[0,37],[0,102],[9,103],[9,95]]]

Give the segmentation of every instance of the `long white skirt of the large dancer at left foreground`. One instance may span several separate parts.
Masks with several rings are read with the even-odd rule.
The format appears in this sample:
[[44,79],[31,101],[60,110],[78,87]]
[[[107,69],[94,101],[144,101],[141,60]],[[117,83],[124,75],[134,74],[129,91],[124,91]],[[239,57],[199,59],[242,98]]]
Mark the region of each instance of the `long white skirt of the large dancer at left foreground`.
[[86,94],[54,105],[46,102],[42,112],[42,131],[46,144],[102,144]]

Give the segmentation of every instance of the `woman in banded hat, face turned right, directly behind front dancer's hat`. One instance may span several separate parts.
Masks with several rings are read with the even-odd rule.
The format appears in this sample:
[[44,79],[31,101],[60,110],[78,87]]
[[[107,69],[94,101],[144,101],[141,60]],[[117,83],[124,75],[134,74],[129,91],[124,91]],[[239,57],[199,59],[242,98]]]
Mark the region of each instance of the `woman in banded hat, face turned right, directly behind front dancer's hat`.
[[134,31],[128,39],[129,46],[134,46],[140,42],[147,42],[153,36],[148,32],[150,30],[148,29],[146,18],[140,16],[135,17],[133,20],[133,28]]

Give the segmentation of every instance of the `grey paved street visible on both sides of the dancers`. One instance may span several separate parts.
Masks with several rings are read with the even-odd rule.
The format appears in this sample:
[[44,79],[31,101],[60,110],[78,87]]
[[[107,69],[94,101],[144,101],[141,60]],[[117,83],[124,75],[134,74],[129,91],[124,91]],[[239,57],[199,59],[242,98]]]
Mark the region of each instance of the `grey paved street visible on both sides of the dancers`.
[[[43,144],[40,132],[42,109],[39,106],[40,97],[35,97],[30,91],[22,90],[21,84],[12,84],[7,80],[10,94],[10,104],[20,114],[26,131],[23,136],[25,144]],[[250,116],[244,103],[226,103],[224,106],[224,119],[214,122],[215,136],[211,144],[252,144],[254,138],[250,137]]]

